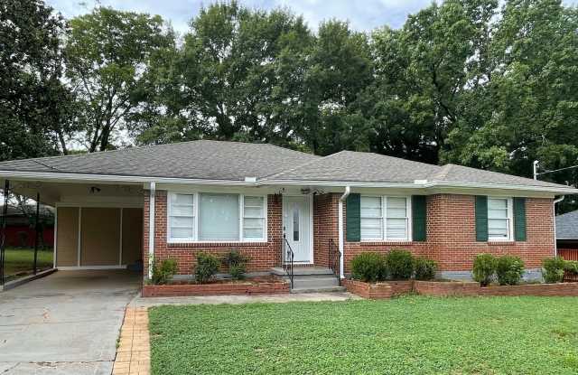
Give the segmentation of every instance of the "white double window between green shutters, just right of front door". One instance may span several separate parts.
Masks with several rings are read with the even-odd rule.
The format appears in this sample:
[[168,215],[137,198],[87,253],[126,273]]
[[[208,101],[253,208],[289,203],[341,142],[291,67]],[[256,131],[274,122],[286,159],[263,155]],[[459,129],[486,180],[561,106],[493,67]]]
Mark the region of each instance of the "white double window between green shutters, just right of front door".
[[405,241],[410,234],[410,199],[361,195],[361,240]]

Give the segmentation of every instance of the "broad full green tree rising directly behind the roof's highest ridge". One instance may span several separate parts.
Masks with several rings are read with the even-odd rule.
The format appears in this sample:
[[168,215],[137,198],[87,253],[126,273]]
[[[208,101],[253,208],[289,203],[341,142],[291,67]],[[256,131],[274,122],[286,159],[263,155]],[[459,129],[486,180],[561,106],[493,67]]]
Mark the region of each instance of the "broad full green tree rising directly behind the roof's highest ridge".
[[275,91],[283,74],[277,59],[309,38],[303,20],[284,10],[254,11],[237,2],[201,9],[182,49],[157,65],[162,95],[154,113],[162,108],[165,116],[148,126],[142,123],[140,140],[280,142],[276,104],[284,98]]

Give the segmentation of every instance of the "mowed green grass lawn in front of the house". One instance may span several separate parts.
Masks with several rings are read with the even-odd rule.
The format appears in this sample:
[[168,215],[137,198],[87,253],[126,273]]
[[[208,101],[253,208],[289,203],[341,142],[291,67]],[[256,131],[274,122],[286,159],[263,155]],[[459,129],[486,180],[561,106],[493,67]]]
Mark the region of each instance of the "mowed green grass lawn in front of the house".
[[160,374],[576,374],[578,298],[160,306]]

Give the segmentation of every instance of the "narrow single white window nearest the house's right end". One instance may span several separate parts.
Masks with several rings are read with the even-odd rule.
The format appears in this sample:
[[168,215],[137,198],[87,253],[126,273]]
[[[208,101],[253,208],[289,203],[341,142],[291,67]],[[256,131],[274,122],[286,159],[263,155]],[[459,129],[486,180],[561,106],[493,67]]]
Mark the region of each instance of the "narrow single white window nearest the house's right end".
[[511,198],[488,198],[488,240],[508,241],[514,238],[512,206]]

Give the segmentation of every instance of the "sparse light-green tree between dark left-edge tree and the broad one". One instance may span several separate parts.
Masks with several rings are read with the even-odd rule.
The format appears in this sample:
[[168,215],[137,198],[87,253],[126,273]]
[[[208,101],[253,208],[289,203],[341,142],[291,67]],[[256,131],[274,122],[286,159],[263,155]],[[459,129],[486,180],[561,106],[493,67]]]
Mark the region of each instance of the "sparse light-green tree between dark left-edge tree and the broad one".
[[79,98],[83,141],[89,152],[107,150],[126,117],[150,100],[150,61],[170,50],[174,37],[159,15],[102,6],[70,26],[66,73]]

